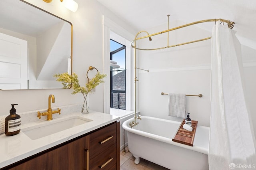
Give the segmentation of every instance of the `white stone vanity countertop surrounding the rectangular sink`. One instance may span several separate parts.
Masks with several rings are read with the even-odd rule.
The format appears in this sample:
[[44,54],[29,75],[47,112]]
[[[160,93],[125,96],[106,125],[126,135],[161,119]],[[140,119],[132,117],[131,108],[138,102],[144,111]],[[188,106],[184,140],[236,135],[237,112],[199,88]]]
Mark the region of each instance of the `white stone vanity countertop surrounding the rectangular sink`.
[[105,113],[99,113],[95,111],[90,111],[88,114],[80,114],[78,112],[69,115],[58,115],[59,117],[54,117],[52,121],[58,121],[59,119],[73,117],[78,115],[86,119],[91,119],[92,121],[78,125],[67,130],[62,130],[54,134],[38,138],[36,140],[30,139],[24,132],[22,128],[27,128],[34,125],[44,124],[44,120],[39,122],[26,123],[21,126],[19,134],[14,136],[6,136],[5,134],[0,135],[0,168],[8,166],[14,162],[32,156],[36,153],[42,152],[46,149],[52,148],[58,144],[66,142],[70,139],[76,138],[92,130],[103,127],[115,121],[118,121],[120,117],[115,115],[109,115]]

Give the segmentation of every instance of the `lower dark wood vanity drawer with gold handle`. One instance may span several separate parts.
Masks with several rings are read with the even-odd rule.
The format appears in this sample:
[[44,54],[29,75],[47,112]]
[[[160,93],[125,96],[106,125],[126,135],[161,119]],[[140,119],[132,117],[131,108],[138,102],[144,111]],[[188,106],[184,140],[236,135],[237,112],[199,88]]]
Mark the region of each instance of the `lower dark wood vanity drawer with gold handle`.
[[90,160],[90,170],[110,170],[116,164],[116,145]]

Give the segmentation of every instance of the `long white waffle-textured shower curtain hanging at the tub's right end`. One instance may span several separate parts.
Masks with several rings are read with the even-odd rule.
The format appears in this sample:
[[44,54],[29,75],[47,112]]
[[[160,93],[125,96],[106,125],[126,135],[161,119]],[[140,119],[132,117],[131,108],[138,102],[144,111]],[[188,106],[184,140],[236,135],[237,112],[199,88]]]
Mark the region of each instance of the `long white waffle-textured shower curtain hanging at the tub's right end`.
[[212,29],[210,170],[256,169],[255,137],[244,96],[240,43],[234,34],[220,22]]

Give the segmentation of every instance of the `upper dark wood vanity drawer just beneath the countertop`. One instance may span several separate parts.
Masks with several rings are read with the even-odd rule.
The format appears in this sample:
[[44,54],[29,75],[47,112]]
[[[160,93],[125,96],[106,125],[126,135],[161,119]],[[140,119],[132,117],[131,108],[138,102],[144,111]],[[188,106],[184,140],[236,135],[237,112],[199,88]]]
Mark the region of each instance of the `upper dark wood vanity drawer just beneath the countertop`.
[[116,123],[90,134],[90,158],[116,143]]

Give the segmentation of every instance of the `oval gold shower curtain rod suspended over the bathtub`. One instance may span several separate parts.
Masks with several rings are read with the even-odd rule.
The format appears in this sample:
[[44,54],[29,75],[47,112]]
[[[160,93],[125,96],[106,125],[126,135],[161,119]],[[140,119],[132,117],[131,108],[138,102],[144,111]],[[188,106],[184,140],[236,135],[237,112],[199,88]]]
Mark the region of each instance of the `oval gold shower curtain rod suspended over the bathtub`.
[[[178,27],[175,27],[175,28],[171,28],[171,29],[168,29],[168,30],[165,30],[165,31],[162,31],[162,32],[158,32],[158,33],[155,33],[155,34],[151,34],[149,35],[148,32],[146,31],[141,31],[141,32],[146,32],[146,34],[148,34],[148,36],[144,36],[144,37],[140,37],[140,38],[137,38],[138,34],[140,34],[141,32],[138,32],[138,34],[136,35],[136,38],[135,40],[133,40],[131,42],[131,46],[132,48],[136,48],[136,49],[139,49],[139,50],[157,50],[157,49],[165,49],[165,48],[170,48],[170,47],[176,47],[176,46],[179,46],[179,45],[185,45],[185,44],[188,44],[188,43],[194,43],[194,42],[200,42],[200,41],[204,41],[204,40],[209,40],[211,39],[212,37],[207,37],[207,38],[203,38],[203,39],[200,39],[200,40],[194,40],[194,41],[191,41],[191,42],[185,42],[185,43],[180,43],[180,44],[176,44],[176,45],[167,45],[166,47],[160,47],[160,48],[154,48],[154,49],[142,49],[142,48],[137,48],[136,47],[136,41],[137,40],[140,40],[140,39],[143,39],[143,38],[150,38],[150,41],[152,40],[151,37],[152,36],[156,36],[158,34],[163,34],[163,33],[166,33],[166,32],[170,32],[170,31],[173,31],[173,30],[177,30],[177,29],[180,29],[180,28],[184,28],[184,27],[187,27],[187,26],[191,26],[191,25],[194,25],[194,24],[200,24],[200,23],[204,23],[204,22],[216,22],[216,21],[221,21],[228,24],[228,28],[232,29],[234,27],[234,22],[230,21],[230,20],[223,20],[223,19],[209,19],[209,20],[201,20],[201,21],[197,21],[197,22],[192,22],[190,24],[185,24],[183,26],[178,26]],[[168,24],[169,25],[169,24]],[[168,37],[169,39],[169,37]],[[135,45],[132,45],[132,43],[135,42]]]

